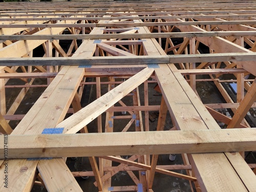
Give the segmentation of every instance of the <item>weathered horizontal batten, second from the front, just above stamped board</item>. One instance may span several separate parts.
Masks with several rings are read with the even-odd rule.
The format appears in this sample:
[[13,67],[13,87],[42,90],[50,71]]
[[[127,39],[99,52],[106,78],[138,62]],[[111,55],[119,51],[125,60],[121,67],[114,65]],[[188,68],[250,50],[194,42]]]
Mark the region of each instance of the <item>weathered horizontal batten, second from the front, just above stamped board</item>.
[[[256,53],[215,53],[191,55],[109,56],[109,57],[3,57],[0,66],[138,65],[180,62],[254,61]],[[255,69],[252,69],[256,70]],[[256,71],[255,71],[256,73]]]

